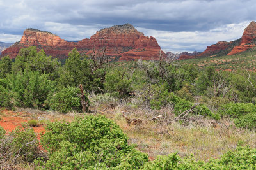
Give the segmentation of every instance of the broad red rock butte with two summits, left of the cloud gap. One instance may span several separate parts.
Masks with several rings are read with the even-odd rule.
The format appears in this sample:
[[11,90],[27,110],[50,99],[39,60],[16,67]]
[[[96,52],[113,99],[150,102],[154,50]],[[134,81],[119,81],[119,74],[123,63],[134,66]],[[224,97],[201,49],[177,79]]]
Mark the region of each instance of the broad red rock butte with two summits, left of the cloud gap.
[[47,55],[61,59],[67,58],[73,48],[86,55],[92,53],[93,48],[99,52],[106,48],[106,55],[113,60],[159,60],[161,51],[154,37],[145,36],[131,24],[124,24],[101,29],[90,39],[85,38],[78,42],[65,41],[51,32],[26,29],[21,40],[6,48],[2,56],[15,58],[21,48],[28,46],[44,49]]

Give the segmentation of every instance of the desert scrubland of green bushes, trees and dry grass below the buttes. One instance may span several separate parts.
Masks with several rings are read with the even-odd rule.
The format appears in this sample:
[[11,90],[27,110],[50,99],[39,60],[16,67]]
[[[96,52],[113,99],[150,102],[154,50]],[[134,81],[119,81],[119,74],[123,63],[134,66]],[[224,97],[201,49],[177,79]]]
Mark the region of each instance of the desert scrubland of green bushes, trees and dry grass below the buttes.
[[34,47],[3,57],[1,166],[255,168],[256,74],[241,60],[228,71],[195,60],[108,62],[73,49],[61,65]]

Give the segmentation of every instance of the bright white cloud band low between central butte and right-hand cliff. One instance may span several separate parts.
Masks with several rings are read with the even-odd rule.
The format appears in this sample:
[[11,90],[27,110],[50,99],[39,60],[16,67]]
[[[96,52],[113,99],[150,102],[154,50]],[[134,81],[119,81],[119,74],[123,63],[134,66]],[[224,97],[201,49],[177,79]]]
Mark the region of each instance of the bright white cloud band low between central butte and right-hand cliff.
[[154,36],[164,51],[188,52],[204,51],[207,46],[218,41],[234,41],[241,38],[244,28],[250,21],[239,24],[227,24],[209,31],[157,31],[152,29],[138,28],[146,36]]

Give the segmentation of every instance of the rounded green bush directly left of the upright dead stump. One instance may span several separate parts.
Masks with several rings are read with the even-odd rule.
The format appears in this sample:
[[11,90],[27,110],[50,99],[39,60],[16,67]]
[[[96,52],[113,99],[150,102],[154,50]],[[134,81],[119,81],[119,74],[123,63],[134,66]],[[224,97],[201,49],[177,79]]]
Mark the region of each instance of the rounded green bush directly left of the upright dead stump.
[[56,92],[50,101],[53,110],[67,113],[68,111],[81,111],[81,97],[78,96],[80,90],[77,87],[67,87]]

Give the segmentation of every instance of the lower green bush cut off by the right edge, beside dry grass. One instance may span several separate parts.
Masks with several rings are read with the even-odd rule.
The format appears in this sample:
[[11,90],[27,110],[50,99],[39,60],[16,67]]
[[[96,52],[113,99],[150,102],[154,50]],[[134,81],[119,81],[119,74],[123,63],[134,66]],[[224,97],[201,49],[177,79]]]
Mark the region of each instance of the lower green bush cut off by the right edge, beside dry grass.
[[237,127],[256,129],[256,112],[243,115],[242,117],[237,118],[234,122]]

